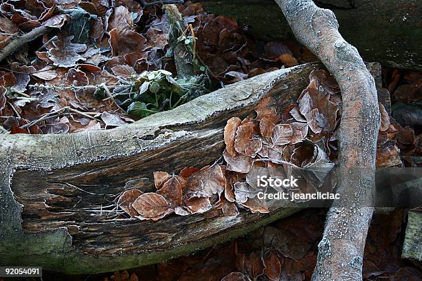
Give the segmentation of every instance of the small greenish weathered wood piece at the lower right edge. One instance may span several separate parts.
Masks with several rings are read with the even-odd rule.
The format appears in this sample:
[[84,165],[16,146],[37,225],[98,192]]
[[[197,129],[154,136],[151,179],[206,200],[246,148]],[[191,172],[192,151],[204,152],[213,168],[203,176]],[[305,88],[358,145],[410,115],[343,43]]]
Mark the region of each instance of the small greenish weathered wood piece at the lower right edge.
[[409,211],[401,258],[422,262],[422,212]]

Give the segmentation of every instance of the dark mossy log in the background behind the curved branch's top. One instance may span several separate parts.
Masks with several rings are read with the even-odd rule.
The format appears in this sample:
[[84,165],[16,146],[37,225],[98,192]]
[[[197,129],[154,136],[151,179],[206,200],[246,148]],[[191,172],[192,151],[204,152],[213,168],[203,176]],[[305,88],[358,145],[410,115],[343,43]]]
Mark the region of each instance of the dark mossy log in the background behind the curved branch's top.
[[[293,38],[274,0],[201,0],[208,12],[248,24],[258,37]],[[339,31],[363,59],[422,70],[422,4],[419,0],[320,0],[336,14]],[[359,30],[359,31],[356,31]]]

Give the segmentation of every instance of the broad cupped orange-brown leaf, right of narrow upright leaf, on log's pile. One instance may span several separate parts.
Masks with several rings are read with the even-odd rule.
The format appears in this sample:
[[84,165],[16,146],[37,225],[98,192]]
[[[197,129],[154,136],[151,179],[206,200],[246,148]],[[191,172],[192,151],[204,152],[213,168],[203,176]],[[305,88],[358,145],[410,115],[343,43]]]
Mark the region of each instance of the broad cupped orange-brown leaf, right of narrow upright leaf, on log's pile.
[[262,141],[258,138],[259,127],[254,121],[240,125],[234,138],[234,150],[243,156],[257,155],[262,147]]

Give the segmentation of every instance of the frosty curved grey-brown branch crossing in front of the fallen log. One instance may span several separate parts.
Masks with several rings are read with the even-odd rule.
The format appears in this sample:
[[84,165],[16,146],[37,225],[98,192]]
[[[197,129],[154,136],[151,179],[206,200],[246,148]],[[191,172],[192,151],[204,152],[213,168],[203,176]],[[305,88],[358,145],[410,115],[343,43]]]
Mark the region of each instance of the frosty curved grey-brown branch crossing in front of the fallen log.
[[341,37],[332,11],[318,8],[310,0],[276,2],[297,39],[334,75],[343,99],[337,163],[341,199],[328,212],[312,279],[360,281],[373,212],[380,123],[376,85],[359,52]]

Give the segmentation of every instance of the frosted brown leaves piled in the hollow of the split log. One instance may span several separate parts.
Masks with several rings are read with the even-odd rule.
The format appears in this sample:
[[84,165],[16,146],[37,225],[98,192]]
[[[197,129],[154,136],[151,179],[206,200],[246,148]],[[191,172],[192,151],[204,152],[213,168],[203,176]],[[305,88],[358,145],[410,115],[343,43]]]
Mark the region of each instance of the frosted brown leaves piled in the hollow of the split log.
[[[257,105],[256,116],[228,120],[224,129],[223,163],[201,169],[187,167],[178,175],[154,172],[157,191],[126,190],[117,198],[117,205],[131,218],[141,220],[159,220],[172,213],[187,216],[207,211],[210,211],[208,216],[237,216],[239,208],[265,213],[270,211],[268,205],[257,194],[267,190],[257,187],[257,170],[252,168],[283,167],[287,171],[287,174],[279,175],[283,178],[290,176],[292,167],[314,171],[320,182],[305,178],[303,188],[306,190],[299,191],[316,192],[334,166],[340,108],[339,87],[333,77],[325,70],[314,70],[310,74],[310,84],[297,103],[278,113],[266,97]],[[382,150],[392,147],[398,152],[394,139],[398,131],[390,124],[381,103],[379,108],[382,115],[379,134],[383,138],[379,138],[377,163],[379,167],[398,165],[401,162],[396,154]],[[291,193],[297,190],[278,191]]]

